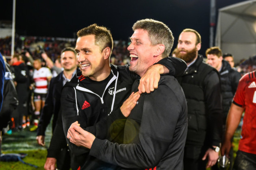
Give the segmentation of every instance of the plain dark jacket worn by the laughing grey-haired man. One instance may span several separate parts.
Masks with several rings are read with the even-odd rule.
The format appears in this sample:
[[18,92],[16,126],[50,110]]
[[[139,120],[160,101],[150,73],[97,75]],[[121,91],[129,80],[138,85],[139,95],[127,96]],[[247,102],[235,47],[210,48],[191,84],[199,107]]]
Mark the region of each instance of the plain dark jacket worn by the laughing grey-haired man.
[[[132,91],[136,91],[136,80]],[[161,76],[158,89],[141,94],[124,126],[124,144],[95,139],[90,155],[122,170],[183,169],[187,136],[186,98],[173,76]]]

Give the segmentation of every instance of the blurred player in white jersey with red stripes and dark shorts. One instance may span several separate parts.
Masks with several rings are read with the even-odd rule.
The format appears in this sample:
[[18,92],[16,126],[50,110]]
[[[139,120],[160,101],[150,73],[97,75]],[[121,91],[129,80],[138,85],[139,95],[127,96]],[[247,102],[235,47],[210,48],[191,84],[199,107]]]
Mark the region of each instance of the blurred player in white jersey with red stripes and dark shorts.
[[39,117],[41,109],[45,105],[45,98],[48,89],[48,82],[52,78],[52,73],[49,68],[41,66],[41,59],[35,59],[34,61],[34,73],[33,79],[35,81],[35,90],[34,90],[34,120],[33,127],[30,128],[30,131],[35,131],[38,127]]

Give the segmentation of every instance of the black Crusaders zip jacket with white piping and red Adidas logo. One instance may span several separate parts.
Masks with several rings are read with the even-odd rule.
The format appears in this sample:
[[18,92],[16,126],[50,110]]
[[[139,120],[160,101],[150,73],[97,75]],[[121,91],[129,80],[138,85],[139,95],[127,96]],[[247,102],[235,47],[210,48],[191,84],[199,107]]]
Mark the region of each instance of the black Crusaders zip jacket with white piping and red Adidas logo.
[[[83,77],[82,72],[79,72],[75,79],[66,83],[61,94],[61,112],[65,136],[67,136],[67,131],[73,122],[78,121],[81,127],[93,126],[111,111],[121,107],[122,102],[131,93],[132,83],[136,78],[136,75],[128,70],[128,67],[111,66],[110,74],[113,74],[113,77],[108,82],[102,96],[98,96],[98,94],[85,87],[86,84],[83,84],[83,81],[88,78]],[[113,91],[116,91],[116,93],[113,93]],[[107,129],[107,127],[104,129]],[[102,131],[104,129],[98,130]],[[90,165],[95,168],[95,164],[98,164],[99,167],[108,166],[94,157],[90,157],[89,150],[77,147],[70,143],[69,139],[66,140],[70,150],[76,155],[77,166],[82,167],[83,165],[87,168]],[[92,164],[92,162],[95,162],[95,164]],[[88,169],[93,169],[93,167]],[[74,169],[74,167],[72,168]]]

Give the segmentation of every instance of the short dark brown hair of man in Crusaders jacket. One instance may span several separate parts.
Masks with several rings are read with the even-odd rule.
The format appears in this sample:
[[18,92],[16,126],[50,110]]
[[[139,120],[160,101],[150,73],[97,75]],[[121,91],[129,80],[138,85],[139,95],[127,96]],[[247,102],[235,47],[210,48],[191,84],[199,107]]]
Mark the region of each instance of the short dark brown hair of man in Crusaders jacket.
[[78,37],[83,37],[85,35],[95,35],[95,45],[100,47],[101,52],[106,47],[109,47],[112,52],[113,38],[111,32],[106,27],[92,24],[77,32]]

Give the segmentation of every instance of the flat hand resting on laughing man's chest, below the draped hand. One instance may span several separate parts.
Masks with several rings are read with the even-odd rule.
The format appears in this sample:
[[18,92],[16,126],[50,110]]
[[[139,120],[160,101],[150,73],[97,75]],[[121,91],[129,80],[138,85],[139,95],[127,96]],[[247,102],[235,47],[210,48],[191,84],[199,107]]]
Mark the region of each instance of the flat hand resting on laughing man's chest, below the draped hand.
[[130,115],[132,109],[135,107],[137,100],[139,99],[140,96],[141,94],[139,94],[139,92],[132,92],[129,98],[126,99],[124,103],[122,103],[120,110],[125,117],[128,117]]

